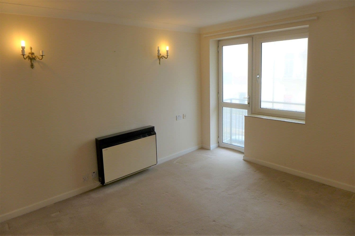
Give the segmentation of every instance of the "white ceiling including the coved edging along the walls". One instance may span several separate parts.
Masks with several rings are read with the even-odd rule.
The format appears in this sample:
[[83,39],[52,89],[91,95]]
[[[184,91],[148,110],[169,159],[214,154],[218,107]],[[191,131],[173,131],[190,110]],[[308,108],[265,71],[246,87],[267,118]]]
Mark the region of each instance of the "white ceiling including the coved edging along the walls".
[[[127,22],[141,21],[202,28],[294,9],[308,14],[317,10],[353,6],[354,2],[354,0],[0,0],[2,3],[0,11],[22,12],[24,15],[49,15],[57,18],[77,18],[79,15],[83,18],[86,14],[87,20],[93,21],[100,21],[99,18],[112,21],[116,18],[125,19]],[[312,12],[309,12],[310,9]]]

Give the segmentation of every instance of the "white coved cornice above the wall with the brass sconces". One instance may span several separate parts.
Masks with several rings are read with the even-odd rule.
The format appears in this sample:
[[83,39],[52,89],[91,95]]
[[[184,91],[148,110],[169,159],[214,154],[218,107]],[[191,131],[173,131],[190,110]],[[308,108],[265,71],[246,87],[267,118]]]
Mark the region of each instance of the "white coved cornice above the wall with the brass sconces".
[[[43,11],[44,8],[45,11]],[[21,4],[12,4],[12,3],[5,3],[5,2],[0,2],[0,12],[17,14],[17,15],[27,15],[27,16],[41,16],[41,17],[72,19],[72,20],[79,20],[79,21],[94,21],[94,22],[111,23],[111,24],[132,25],[138,27],[174,30],[174,31],[182,31],[182,32],[197,33],[197,34],[200,33],[199,28],[189,27],[184,25],[142,21],[137,19],[123,19],[123,18],[105,16],[101,14],[99,15],[99,14],[92,14],[86,12],[69,11],[69,10],[61,10],[55,8],[29,6],[29,5],[21,5]]]

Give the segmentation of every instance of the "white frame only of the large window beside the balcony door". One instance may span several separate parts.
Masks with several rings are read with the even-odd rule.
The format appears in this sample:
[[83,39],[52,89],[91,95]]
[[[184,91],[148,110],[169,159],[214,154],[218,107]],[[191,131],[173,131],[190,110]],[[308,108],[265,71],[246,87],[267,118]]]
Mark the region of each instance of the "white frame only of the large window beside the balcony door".
[[[303,39],[308,38],[308,28],[307,29],[298,29],[298,30],[287,30],[277,33],[261,34],[253,36],[253,79],[252,80],[252,113],[262,114],[262,115],[271,115],[279,117],[288,117],[296,119],[305,119],[305,112],[298,111],[286,111],[286,110],[277,110],[269,108],[261,108],[261,86],[262,86],[262,74],[261,74],[261,44],[263,42],[274,42],[281,40],[291,40],[291,39]],[[307,49],[308,50],[308,49]],[[307,51],[307,64],[308,64],[308,51]],[[307,68],[306,68],[307,70]],[[307,73],[306,73],[307,74]],[[257,82],[257,75],[258,82]],[[306,88],[307,88],[307,78],[306,78]],[[306,105],[305,105],[306,106]]]

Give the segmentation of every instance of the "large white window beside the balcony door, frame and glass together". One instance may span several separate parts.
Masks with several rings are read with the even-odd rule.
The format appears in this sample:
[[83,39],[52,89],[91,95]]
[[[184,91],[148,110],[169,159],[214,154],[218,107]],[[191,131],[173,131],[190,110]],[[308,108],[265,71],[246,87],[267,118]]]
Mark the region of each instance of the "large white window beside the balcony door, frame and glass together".
[[304,119],[308,34],[256,36],[255,45],[253,113]]

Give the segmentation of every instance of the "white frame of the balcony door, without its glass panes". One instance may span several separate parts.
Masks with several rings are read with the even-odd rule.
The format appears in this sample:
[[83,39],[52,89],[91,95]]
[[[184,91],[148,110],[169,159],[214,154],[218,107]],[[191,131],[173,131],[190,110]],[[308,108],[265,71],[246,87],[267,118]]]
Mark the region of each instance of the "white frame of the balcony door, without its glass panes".
[[[223,58],[222,58],[223,46],[237,45],[237,44],[248,44],[248,96],[247,97],[249,97],[249,104],[223,102]],[[219,48],[219,52],[218,52],[218,126],[219,126],[218,144],[220,147],[231,148],[231,149],[244,152],[244,147],[223,143],[223,107],[244,109],[247,110],[248,115],[251,114],[253,38],[249,36],[247,38],[219,41],[218,48]]]

